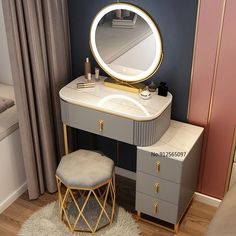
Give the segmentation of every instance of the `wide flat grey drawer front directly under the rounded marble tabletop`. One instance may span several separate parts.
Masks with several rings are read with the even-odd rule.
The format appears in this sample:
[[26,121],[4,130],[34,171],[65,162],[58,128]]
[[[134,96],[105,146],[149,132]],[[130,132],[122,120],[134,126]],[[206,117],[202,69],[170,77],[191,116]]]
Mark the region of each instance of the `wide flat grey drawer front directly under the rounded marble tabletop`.
[[133,144],[133,121],[61,100],[62,121],[68,126]]

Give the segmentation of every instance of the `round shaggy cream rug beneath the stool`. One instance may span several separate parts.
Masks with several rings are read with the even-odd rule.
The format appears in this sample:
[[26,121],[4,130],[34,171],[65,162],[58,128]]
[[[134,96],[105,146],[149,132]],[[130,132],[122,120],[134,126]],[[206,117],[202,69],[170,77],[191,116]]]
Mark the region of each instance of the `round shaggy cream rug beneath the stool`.
[[[34,213],[21,227],[19,236],[89,236],[89,233],[70,233],[59,219],[58,202],[48,204]],[[112,225],[96,233],[96,236],[138,236],[140,231],[132,215],[121,207],[116,207]]]

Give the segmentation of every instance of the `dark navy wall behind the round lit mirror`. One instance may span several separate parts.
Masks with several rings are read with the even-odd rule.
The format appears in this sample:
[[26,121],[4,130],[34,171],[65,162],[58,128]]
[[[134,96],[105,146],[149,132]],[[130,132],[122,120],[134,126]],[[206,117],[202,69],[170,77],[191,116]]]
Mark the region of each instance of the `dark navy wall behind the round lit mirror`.
[[[85,57],[95,61],[89,48],[89,30],[96,13],[111,0],[69,0],[73,78],[83,74]],[[158,23],[164,41],[164,61],[150,78],[165,81],[173,94],[172,118],[187,120],[188,94],[197,15],[197,0],[130,0]]]

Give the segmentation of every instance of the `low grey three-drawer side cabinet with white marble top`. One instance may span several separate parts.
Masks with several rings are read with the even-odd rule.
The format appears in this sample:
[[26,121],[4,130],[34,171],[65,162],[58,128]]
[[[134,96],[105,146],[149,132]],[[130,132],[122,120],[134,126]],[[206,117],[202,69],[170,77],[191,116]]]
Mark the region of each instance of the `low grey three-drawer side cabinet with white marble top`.
[[201,127],[171,121],[157,143],[137,148],[138,212],[179,223],[196,191],[202,134]]

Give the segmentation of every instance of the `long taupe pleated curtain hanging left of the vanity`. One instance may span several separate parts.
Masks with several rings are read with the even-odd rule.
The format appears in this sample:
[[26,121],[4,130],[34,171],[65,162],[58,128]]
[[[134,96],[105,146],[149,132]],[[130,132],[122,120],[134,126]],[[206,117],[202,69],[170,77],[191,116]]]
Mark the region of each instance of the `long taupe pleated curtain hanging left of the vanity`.
[[66,0],[2,0],[30,199],[55,192],[63,154],[59,90],[69,82]]

